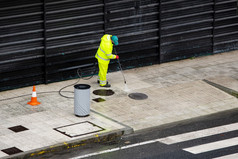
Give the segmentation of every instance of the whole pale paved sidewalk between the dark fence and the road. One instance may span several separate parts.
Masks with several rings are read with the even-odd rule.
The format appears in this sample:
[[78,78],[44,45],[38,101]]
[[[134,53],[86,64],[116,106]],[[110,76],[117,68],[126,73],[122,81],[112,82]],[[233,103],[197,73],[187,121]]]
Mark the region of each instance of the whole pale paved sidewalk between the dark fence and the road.
[[[76,117],[74,100],[58,94],[76,79],[37,85],[38,106],[27,104],[32,87],[0,92],[0,158],[34,157],[238,108],[238,51],[126,70],[124,74],[128,90],[121,72],[108,74],[110,89],[115,92],[111,96],[93,93],[102,89],[97,77],[79,81],[91,85],[87,117]],[[64,91],[73,91],[73,86]],[[128,97],[136,92],[148,99]],[[63,94],[73,97],[69,92]],[[97,98],[105,101],[94,101]]]

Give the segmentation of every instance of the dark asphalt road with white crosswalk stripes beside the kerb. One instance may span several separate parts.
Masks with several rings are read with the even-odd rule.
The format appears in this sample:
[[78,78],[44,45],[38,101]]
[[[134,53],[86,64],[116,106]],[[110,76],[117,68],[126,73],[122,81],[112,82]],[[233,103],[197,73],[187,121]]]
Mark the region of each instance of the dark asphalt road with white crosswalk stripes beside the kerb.
[[238,159],[238,109],[135,132],[112,143],[95,143],[41,158]]

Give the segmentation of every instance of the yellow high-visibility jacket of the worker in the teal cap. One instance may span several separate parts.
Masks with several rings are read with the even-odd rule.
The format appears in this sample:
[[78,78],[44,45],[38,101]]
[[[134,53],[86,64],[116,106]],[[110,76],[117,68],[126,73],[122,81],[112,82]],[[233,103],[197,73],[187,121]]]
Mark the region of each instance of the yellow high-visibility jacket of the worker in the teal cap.
[[111,41],[112,35],[105,34],[101,38],[100,46],[98,47],[95,58],[99,63],[109,64],[110,59],[116,59],[116,55],[112,54],[113,43]]

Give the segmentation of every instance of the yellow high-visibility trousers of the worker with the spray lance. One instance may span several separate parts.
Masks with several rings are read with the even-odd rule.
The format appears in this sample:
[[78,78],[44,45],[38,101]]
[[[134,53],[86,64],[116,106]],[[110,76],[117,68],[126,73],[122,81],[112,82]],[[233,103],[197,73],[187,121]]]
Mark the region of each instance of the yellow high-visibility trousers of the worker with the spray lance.
[[98,80],[100,82],[100,86],[104,86],[107,84],[107,70],[108,64],[98,62]]

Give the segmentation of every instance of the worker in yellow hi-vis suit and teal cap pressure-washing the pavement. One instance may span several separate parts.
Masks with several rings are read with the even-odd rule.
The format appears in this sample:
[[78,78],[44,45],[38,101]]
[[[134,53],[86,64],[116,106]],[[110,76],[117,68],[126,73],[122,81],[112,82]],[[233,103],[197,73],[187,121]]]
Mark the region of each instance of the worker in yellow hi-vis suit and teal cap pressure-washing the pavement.
[[115,35],[105,34],[101,38],[100,46],[97,50],[95,58],[98,60],[98,83],[101,87],[110,87],[107,81],[107,70],[110,59],[119,59],[118,55],[112,54],[113,44],[118,45],[118,38]]

